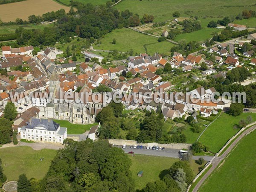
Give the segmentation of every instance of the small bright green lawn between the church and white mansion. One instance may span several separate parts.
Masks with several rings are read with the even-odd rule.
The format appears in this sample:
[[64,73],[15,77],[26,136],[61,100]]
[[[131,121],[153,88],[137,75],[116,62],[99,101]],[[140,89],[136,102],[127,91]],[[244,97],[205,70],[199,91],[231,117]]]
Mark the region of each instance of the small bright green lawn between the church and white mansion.
[[69,121],[65,120],[53,120],[56,123],[60,124],[61,127],[67,128],[67,134],[83,134],[85,131],[90,130],[90,128],[94,125],[98,125],[98,123],[80,125],[80,124],[72,124]]

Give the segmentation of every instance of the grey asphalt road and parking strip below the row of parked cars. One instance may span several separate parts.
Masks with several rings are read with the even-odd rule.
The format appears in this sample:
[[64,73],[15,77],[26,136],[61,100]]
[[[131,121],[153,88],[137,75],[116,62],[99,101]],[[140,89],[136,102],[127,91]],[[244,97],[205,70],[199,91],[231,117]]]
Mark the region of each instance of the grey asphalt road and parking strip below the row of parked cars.
[[[116,146],[122,148],[122,146]],[[172,157],[172,158],[180,158],[179,149],[172,149],[172,148],[165,148],[164,151],[162,150],[152,150],[152,149],[137,149],[137,148],[130,148],[130,146],[126,146],[123,148],[125,153],[129,151],[133,151],[134,154],[144,154],[144,155],[152,155],[152,156],[160,156],[160,157]],[[197,160],[200,157],[203,157],[204,160],[211,160],[214,156],[193,156],[192,159]]]

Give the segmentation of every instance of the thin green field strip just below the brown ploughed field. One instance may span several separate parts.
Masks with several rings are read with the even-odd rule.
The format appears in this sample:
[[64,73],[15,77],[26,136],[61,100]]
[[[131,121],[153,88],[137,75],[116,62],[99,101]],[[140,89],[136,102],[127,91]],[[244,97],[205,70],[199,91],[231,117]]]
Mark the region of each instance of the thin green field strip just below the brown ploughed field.
[[1,25],[0,26],[0,34],[6,33],[15,33],[15,30],[19,27],[23,27],[24,29],[44,29],[48,26],[53,26],[54,23],[44,24],[44,25],[34,25],[34,24],[27,24],[27,25]]

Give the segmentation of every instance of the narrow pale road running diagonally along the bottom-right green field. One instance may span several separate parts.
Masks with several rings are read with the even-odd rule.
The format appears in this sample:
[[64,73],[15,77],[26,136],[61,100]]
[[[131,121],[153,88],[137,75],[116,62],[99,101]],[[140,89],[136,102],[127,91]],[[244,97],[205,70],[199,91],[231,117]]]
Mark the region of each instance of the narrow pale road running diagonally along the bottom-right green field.
[[236,140],[227,148],[227,150],[220,156],[220,157],[215,157],[212,160],[212,167],[209,169],[209,171],[199,180],[198,184],[195,186],[193,189],[193,192],[197,192],[198,189],[201,187],[201,185],[204,183],[204,181],[207,179],[207,177],[218,167],[218,164],[223,160],[229,152],[236,146],[236,144],[250,131],[252,131],[254,128],[256,128],[256,125],[248,128],[246,131],[244,131],[239,137],[236,138]]

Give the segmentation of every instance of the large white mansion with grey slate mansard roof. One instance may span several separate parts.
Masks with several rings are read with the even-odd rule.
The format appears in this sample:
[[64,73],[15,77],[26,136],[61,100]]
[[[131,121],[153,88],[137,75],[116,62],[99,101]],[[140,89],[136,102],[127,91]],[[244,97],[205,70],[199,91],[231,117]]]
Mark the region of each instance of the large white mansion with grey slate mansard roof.
[[35,142],[63,143],[67,138],[67,128],[50,119],[32,118],[19,132],[20,139]]

